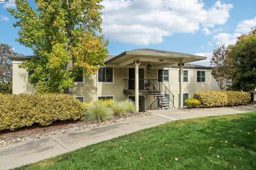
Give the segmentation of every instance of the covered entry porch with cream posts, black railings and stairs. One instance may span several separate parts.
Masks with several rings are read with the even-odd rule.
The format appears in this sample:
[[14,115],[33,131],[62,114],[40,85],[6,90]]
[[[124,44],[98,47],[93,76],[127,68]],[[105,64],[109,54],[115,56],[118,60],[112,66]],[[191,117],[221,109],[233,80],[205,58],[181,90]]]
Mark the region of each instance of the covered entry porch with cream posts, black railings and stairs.
[[[167,52],[163,50],[154,49],[137,49],[124,52],[118,56],[106,61],[105,64],[108,67],[127,67],[129,70],[128,79],[124,80],[124,94],[128,96],[134,96],[136,110],[139,112],[139,96],[153,95],[156,99],[166,97],[170,102],[174,102],[174,96],[170,89],[168,89],[164,82],[159,78],[150,79],[143,77],[141,69],[145,72],[151,72],[152,70],[163,69],[165,67],[171,67],[172,65],[179,66],[180,82],[183,80],[183,66],[184,63],[194,62],[199,60],[205,60],[206,57]],[[182,94],[182,83],[179,83],[179,94]],[[161,95],[160,95],[161,94]],[[179,107],[183,107],[181,102],[182,95],[179,98]],[[153,103],[152,103],[153,104]]]

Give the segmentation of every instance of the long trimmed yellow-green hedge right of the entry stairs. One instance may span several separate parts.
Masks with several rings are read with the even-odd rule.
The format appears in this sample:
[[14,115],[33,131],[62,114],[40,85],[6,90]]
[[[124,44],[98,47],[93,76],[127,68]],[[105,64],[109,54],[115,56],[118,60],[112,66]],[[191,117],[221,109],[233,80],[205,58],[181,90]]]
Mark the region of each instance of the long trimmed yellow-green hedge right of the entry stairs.
[[203,107],[236,106],[249,103],[250,94],[243,91],[201,91],[194,94]]

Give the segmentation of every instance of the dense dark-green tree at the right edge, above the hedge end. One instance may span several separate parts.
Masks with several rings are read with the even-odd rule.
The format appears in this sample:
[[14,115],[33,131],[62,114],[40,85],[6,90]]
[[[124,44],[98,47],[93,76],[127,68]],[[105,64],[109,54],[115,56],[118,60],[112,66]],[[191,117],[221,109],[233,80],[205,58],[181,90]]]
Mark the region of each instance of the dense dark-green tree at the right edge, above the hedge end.
[[237,38],[229,47],[229,55],[236,69],[232,74],[233,90],[251,91],[256,88],[256,27]]

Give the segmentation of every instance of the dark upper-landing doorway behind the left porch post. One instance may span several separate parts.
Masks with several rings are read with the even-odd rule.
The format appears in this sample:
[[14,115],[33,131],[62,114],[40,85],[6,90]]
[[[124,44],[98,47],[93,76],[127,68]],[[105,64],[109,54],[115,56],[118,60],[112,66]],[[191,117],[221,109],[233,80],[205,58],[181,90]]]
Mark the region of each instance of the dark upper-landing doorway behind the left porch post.
[[[129,68],[129,90],[135,89],[135,69]],[[144,89],[144,69],[139,69],[139,89]]]

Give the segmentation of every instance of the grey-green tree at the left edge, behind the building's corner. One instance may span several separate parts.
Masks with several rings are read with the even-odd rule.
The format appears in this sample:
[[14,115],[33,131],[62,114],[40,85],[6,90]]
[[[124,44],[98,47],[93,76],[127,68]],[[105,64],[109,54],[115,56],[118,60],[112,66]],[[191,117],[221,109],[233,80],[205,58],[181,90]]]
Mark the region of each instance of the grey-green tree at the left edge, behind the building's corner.
[[8,57],[18,56],[12,47],[0,44],[0,93],[11,94],[12,92],[12,62]]

